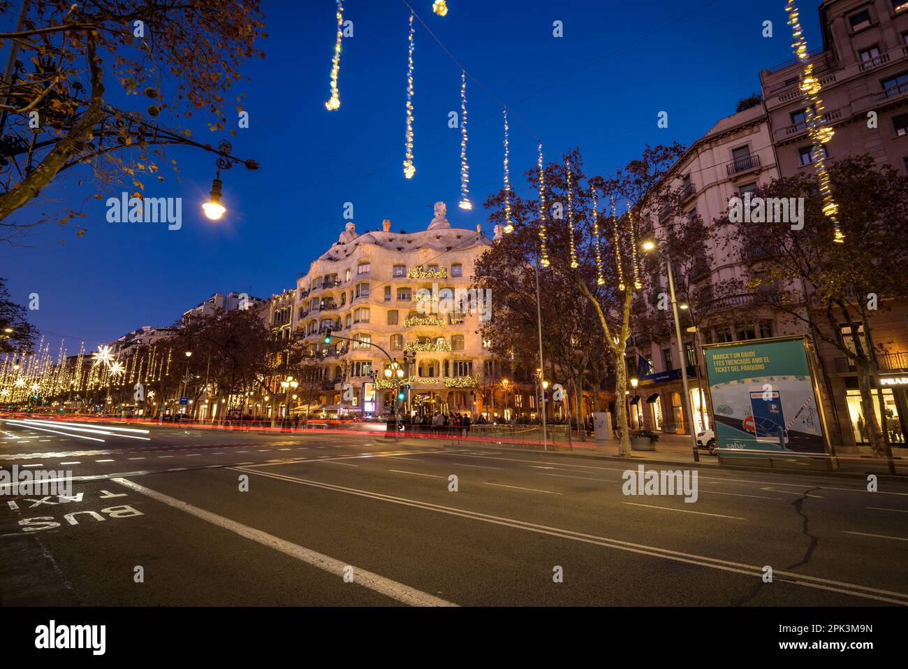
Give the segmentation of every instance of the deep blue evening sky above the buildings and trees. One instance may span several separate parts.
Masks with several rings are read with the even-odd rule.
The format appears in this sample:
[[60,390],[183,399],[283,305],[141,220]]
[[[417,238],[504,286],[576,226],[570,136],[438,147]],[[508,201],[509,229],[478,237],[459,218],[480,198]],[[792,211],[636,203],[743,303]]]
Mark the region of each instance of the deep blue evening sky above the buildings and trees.
[[[536,161],[534,135],[547,159],[579,146],[587,174],[611,173],[646,143],[689,144],[703,135],[734,113],[737,100],[759,92],[761,68],[791,57],[784,0],[449,0],[444,18],[432,14],[430,0],[413,2],[483,86],[468,81],[472,212],[457,208],[459,130],[448,127],[449,111],[459,111],[460,71],[419,21],[417,173],[410,181],[402,175],[407,7],[399,0],[346,4],[354,36],[341,55],[341,109],[330,113],[324,102],[335,3],[264,0],[269,36],[259,45],[267,56],[247,67],[252,83],[235,88],[249,94],[250,128],[229,137],[210,133],[202,116],[193,119],[196,140],[216,145],[228,138],[235,155],[262,165],[223,173],[222,221],[208,221],[199,207],[211,188],[212,155],[171,147],[183,182],[163,166],[167,181],[149,180],[146,195],[182,196],[183,229],[106,223],[104,199],[122,190],[111,186],[101,191],[104,199],[84,206],[84,237],[48,224],[25,238],[28,247],[0,246],[0,276],[19,304],[40,295],[40,310],[30,315],[52,346],[65,335],[74,353],[80,340],[94,348],[141,325],[170,325],[214,292],[268,297],[291,287],[337,239],[345,202],[354,205],[360,233],[380,228],[382,218],[393,230],[424,229],[439,200],[448,203],[452,225],[481,224],[490,233],[481,203],[502,180],[496,97],[510,108],[511,182],[524,193],[523,172]],[[821,45],[818,4],[800,3],[811,49]],[[552,36],[557,19],[562,38]],[[771,39],[761,35],[767,19]],[[656,127],[662,110],[667,129]],[[228,112],[230,122],[235,112]],[[43,195],[79,206],[92,188],[71,176]]]

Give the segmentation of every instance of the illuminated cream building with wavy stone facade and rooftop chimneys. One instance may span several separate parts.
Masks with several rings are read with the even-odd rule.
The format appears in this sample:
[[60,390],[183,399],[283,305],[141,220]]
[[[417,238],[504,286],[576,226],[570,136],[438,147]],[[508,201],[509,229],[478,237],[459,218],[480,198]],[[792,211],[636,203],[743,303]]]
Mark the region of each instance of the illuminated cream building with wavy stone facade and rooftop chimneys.
[[[390,413],[396,384],[385,369],[403,365],[407,353],[415,355],[401,381],[408,412],[479,409],[476,389],[490,359],[479,318],[491,305],[461,308],[459,297],[470,295],[473,265],[491,240],[479,226],[452,227],[444,203],[434,211],[426,229],[413,233],[392,232],[385,220],[381,230],[360,235],[347,223],[298,279],[288,323],[302,337],[301,355],[322,364],[324,384],[313,408],[343,403],[365,415]],[[274,298],[281,318],[285,295]],[[329,328],[331,343],[325,344]],[[351,402],[342,398],[344,384],[352,389]]]

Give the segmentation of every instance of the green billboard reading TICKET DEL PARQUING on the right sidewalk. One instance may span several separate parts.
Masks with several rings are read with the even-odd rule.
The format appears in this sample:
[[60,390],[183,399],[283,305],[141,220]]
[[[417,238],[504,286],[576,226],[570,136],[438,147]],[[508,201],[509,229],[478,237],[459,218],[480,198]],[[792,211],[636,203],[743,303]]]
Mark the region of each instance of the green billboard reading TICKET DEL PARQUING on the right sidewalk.
[[716,446],[725,452],[826,452],[804,337],[703,347]]

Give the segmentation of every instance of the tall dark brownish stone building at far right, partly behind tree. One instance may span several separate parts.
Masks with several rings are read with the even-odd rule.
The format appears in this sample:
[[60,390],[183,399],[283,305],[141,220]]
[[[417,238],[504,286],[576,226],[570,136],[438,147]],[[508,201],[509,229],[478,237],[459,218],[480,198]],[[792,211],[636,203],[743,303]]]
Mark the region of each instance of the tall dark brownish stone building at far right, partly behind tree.
[[[826,145],[831,161],[872,155],[877,165],[908,173],[908,2],[906,0],[824,0],[819,6],[823,45],[812,54],[823,85],[824,118],[834,127]],[[805,126],[801,66],[794,61],[760,73],[775,155],[782,175],[814,169]],[[893,445],[908,434],[908,305],[881,296],[870,319],[883,385],[885,415],[878,423]],[[864,336],[843,325],[846,345]],[[857,376],[850,361],[831,344],[818,345],[824,394],[832,398],[827,421],[838,444],[866,444]]]

